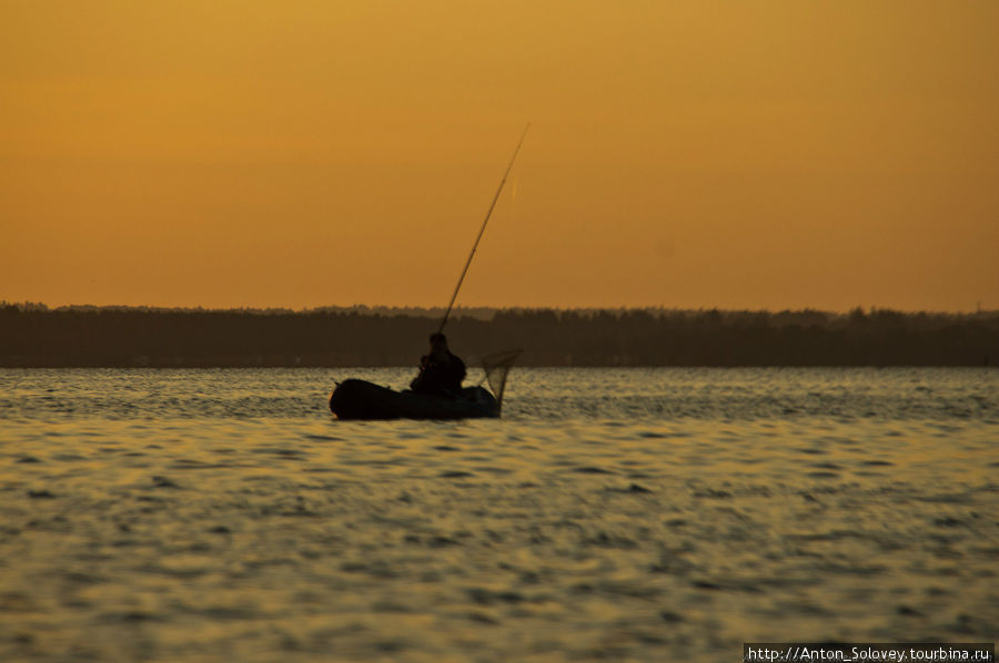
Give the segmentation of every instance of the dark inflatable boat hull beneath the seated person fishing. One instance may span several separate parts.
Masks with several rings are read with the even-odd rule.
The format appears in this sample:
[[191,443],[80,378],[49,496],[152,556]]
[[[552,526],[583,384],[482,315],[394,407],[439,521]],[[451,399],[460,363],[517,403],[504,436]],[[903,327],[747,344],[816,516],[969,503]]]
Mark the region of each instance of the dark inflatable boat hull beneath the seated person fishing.
[[470,419],[498,417],[500,404],[482,387],[466,387],[461,396],[430,396],[350,379],[330,395],[330,411],[337,419]]

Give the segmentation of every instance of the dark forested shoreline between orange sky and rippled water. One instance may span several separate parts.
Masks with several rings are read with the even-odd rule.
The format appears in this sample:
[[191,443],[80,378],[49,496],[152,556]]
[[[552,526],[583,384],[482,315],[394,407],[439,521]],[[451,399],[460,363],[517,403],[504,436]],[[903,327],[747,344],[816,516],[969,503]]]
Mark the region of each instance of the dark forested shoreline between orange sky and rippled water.
[[[304,312],[0,304],[0,367],[410,366],[432,310]],[[982,366],[999,312],[474,309],[448,322],[471,365],[523,348],[525,366]]]

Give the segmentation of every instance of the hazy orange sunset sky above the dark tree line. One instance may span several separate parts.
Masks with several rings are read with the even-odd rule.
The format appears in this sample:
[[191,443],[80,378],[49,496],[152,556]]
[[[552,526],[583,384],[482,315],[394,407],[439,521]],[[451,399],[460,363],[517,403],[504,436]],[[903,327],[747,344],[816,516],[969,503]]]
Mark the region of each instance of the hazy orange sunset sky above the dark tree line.
[[999,308],[999,2],[0,0],[0,299]]

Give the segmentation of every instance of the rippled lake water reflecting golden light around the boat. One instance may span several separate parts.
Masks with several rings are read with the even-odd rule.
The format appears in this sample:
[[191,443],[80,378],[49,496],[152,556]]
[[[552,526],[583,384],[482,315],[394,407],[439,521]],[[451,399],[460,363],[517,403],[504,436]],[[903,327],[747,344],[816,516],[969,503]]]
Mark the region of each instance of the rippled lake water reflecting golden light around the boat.
[[502,420],[329,412],[411,375],[0,370],[0,661],[996,640],[999,370],[514,369]]

